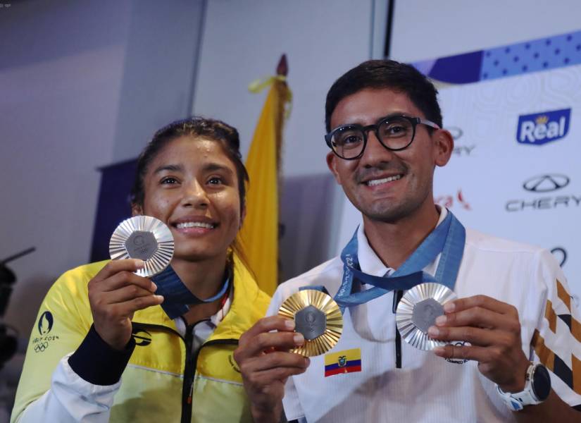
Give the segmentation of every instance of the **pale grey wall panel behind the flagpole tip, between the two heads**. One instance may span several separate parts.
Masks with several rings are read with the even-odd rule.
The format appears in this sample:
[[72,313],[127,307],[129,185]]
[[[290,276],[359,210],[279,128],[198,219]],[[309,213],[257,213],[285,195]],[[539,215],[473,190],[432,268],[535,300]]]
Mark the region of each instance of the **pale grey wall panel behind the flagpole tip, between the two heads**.
[[285,130],[283,174],[327,172],[325,95],[344,71],[370,57],[374,1],[212,0],[208,2],[194,113],[238,128],[249,147],[265,94],[256,78],[289,61],[292,114]]

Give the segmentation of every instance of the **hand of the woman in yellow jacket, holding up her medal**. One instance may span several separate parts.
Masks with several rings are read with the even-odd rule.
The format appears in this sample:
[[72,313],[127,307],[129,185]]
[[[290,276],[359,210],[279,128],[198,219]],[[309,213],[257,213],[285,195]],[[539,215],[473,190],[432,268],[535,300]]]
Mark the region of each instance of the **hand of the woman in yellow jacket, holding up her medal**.
[[131,319],[137,310],[163,302],[154,295],[155,283],[132,273],[142,260],[111,260],[89,281],[89,304],[95,330],[112,348],[123,350],[131,338]]

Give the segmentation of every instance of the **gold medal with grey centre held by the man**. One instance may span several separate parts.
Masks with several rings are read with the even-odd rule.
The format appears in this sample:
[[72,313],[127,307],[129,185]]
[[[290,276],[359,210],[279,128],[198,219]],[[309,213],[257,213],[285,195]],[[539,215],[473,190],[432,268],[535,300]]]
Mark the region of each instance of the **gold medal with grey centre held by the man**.
[[293,319],[294,330],[305,337],[301,347],[292,353],[314,357],[337,345],[343,331],[343,314],[330,295],[306,289],[291,295],[282,303],[278,314]]

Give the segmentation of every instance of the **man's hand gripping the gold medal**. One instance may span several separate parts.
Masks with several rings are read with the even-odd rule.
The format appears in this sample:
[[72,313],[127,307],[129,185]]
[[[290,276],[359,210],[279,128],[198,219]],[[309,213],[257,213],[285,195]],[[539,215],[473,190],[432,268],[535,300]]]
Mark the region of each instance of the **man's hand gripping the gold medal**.
[[258,320],[240,337],[234,359],[242,372],[255,422],[279,422],[287,379],[308,367],[308,358],[288,352],[304,344],[301,333],[293,330],[294,321],[272,316]]

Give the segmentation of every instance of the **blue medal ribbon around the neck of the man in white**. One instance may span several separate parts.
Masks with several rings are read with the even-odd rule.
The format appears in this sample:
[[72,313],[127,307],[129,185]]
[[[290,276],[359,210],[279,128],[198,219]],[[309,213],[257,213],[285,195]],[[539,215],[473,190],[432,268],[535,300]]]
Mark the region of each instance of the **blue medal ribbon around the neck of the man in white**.
[[[374,298],[380,297],[392,290],[408,290],[424,282],[442,283],[454,290],[458,269],[464,252],[466,241],[466,229],[456,216],[448,212],[446,219],[442,221],[434,231],[427,235],[423,243],[408,257],[399,269],[387,277],[373,276],[361,271],[357,256],[357,230],[349,243],[341,252],[343,262],[343,280],[335,301],[344,311],[345,307],[360,305]],[[432,263],[437,255],[442,253],[439,259],[435,276],[425,273],[422,269]],[[361,292],[353,292],[353,283],[369,283],[373,288]],[[321,287],[304,287],[302,289],[320,289]]]

